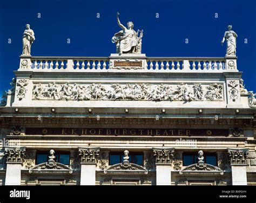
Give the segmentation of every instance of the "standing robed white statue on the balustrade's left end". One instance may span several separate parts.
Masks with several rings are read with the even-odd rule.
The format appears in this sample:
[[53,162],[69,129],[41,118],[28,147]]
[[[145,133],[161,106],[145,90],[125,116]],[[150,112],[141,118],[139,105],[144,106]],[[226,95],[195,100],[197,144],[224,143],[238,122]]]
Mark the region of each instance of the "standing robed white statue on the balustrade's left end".
[[23,33],[22,43],[23,43],[23,50],[22,55],[30,55],[31,52],[31,45],[35,40],[35,34],[33,30],[30,29],[30,25],[26,24],[26,30]]

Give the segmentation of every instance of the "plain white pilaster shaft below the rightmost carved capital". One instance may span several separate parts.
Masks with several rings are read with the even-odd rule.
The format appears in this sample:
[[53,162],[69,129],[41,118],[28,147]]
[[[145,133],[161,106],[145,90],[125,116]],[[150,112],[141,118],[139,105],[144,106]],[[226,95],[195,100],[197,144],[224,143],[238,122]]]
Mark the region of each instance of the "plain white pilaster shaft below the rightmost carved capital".
[[232,165],[232,185],[247,185],[246,165]]

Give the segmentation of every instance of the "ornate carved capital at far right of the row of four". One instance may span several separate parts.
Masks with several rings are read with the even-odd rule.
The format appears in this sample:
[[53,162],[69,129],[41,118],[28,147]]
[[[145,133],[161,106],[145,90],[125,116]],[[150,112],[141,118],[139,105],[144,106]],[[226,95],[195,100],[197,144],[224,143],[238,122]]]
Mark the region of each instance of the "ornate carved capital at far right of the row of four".
[[227,148],[230,164],[246,164],[248,153],[248,148]]

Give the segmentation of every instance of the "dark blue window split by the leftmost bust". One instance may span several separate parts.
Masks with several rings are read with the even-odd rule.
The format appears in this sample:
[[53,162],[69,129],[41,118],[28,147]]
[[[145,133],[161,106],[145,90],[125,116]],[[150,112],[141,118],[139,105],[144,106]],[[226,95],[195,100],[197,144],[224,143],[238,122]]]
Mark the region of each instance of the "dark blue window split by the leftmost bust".
[[[64,164],[64,165],[69,165],[70,163],[70,153],[66,152],[56,152],[54,154],[55,156],[55,161]],[[48,161],[49,153],[46,152],[38,152],[37,153],[37,159],[36,159],[36,164],[42,164]]]

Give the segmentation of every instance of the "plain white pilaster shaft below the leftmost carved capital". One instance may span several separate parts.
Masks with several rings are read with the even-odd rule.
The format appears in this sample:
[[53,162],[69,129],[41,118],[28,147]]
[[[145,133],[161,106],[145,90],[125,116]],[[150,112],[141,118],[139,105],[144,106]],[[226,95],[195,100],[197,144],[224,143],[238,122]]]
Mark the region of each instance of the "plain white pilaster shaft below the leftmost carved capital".
[[21,185],[21,162],[6,162],[5,185]]

